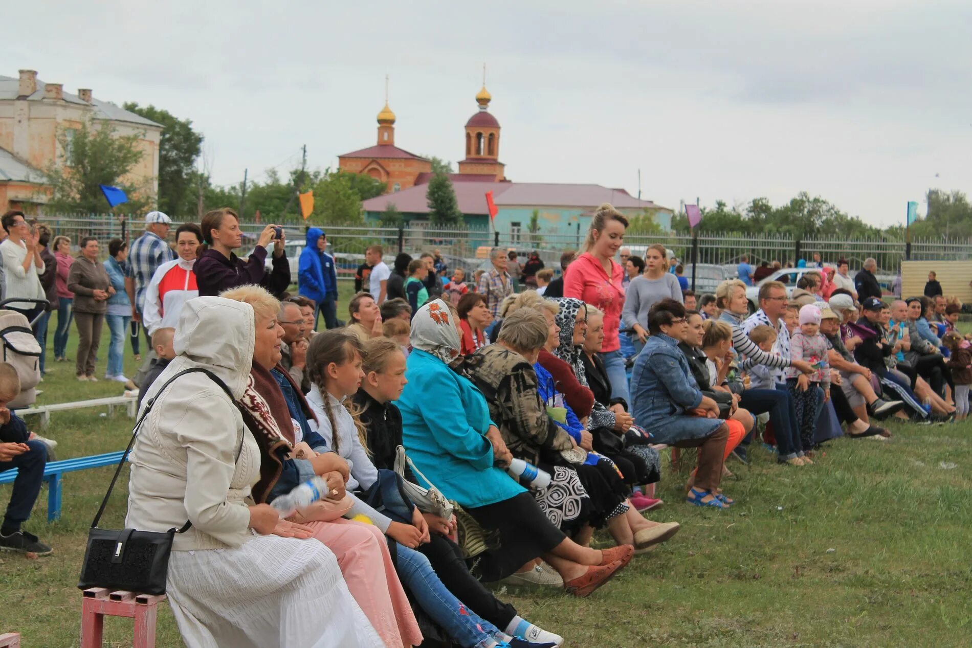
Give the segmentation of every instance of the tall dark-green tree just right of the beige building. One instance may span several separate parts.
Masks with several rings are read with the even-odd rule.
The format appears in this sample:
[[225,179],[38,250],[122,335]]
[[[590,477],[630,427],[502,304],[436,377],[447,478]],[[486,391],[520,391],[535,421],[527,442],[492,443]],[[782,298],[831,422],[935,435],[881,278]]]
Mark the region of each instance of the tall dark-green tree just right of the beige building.
[[158,143],[158,209],[177,216],[194,214],[197,195],[192,193],[192,171],[202,135],[192,130],[190,119],[178,119],[151,104],[142,107],[129,101],[122,108],[162,124]]

